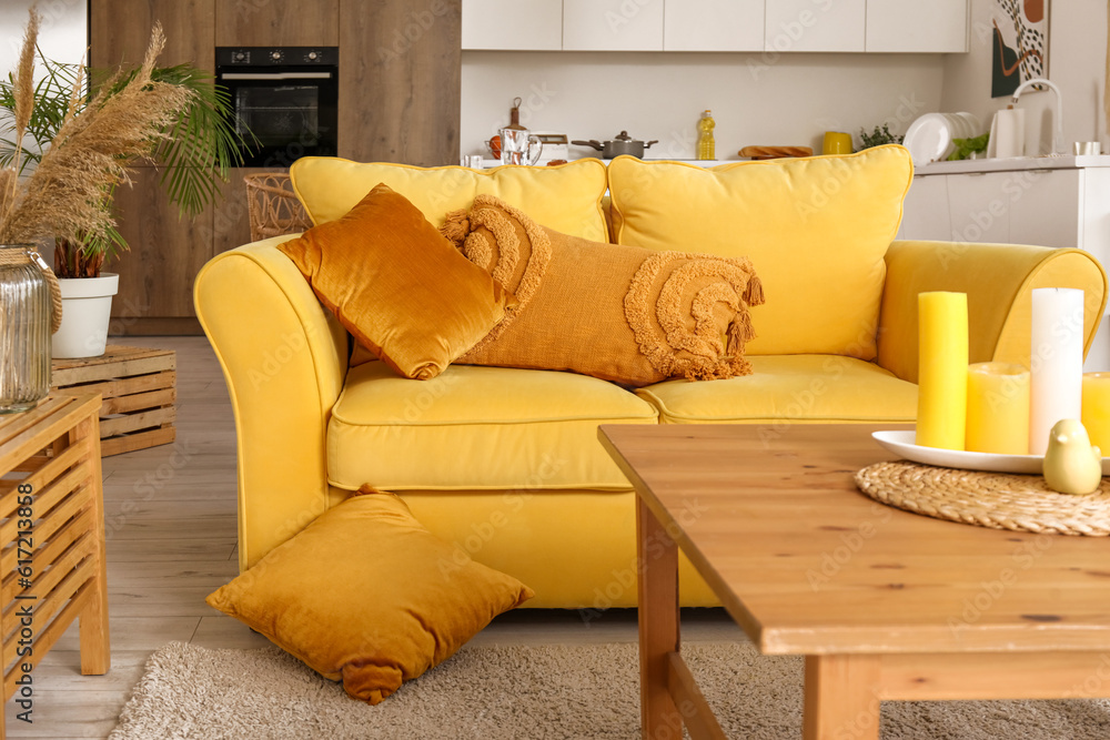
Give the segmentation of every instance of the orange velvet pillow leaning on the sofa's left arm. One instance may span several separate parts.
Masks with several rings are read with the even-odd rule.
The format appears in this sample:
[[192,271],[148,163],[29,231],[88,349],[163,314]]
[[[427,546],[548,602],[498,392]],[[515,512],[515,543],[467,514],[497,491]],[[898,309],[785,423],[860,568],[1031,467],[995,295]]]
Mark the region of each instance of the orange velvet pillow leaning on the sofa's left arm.
[[420,381],[477,344],[515,301],[384,184],[278,249],[361,345]]

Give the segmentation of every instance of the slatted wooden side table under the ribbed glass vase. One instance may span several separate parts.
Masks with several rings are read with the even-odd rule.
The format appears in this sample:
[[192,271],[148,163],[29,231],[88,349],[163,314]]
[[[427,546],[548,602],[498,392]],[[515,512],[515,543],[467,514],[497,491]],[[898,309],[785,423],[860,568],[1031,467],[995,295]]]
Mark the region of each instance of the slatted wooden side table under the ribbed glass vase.
[[0,668],[3,700],[31,720],[32,671],[74,619],[81,672],[111,666],[100,402],[54,393],[0,416]]

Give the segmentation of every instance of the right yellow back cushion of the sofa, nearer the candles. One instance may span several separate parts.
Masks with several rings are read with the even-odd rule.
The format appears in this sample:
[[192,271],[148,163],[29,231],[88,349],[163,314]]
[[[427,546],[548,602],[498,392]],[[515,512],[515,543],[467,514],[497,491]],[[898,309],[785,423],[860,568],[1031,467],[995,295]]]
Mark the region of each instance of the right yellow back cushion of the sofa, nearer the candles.
[[884,255],[912,175],[897,145],[713,169],[619,156],[613,233],[619,244],[749,257],[767,295],[751,310],[749,355],[872,359]]

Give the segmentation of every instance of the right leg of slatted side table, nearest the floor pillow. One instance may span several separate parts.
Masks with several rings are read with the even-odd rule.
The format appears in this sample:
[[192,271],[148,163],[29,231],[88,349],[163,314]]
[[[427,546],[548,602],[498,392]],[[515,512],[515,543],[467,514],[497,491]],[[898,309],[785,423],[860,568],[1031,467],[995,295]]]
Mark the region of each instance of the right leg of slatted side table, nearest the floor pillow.
[[95,414],[81,422],[71,440],[85,445],[89,453],[89,496],[93,511],[95,557],[99,561],[90,582],[89,605],[81,611],[81,673],[103,675],[112,665],[112,648],[108,631],[108,560],[104,547],[104,477],[100,460],[100,419]]

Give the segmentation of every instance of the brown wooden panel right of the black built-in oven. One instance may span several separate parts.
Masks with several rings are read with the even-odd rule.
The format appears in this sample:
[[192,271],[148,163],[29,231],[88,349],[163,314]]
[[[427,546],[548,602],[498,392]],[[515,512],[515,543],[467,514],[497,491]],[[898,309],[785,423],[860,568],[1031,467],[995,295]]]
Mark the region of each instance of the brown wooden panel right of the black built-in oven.
[[460,0],[340,6],[340,156],[458,164]]

